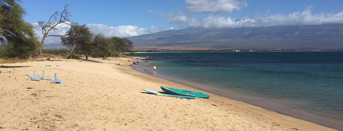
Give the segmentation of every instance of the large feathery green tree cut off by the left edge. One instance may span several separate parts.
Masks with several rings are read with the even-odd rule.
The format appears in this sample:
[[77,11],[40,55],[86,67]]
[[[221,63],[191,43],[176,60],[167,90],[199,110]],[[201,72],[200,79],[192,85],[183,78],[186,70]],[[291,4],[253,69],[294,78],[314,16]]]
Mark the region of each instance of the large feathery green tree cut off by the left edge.
[[23,20],[20,0],[0,0],[1,56],[28,58],[39,46],[33,27]]

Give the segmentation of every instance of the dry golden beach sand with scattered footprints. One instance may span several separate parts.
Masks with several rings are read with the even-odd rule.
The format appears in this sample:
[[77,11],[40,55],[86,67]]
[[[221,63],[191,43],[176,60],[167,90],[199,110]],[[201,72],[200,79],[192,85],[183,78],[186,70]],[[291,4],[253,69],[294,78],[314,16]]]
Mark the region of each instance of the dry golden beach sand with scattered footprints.
[[[0,64],[0,131],[334,131],[208,92],[210,99],[144,93],[197,89],[135,71],[133,58],[51,60]],[[31,81],[34,70],[65,83]]]

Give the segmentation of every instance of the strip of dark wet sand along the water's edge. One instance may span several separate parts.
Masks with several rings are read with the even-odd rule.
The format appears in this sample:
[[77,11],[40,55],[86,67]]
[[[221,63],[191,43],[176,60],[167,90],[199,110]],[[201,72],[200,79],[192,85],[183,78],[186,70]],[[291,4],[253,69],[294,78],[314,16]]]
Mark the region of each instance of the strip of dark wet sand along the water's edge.
[[[138,59],[144,59],[144,58],[140,58],[140,57],[137,57],[137,58]],[[139,67],[132,66],[132,70],[135,70],[137,72],[144,73],[144,74],[147,74],[150,76],[154,76],[154,74],[151,74],[151,72],[147,72],[146,70],[139,68]],[[156,77],[158,77],[158,75]],[[313,113],[313,112],[306,111],[306,110],[296,109],[296,108],[292,108],[292,107],[282,105],[279,103],[275,103],[272,101],[264,100],[263,98],[249,97],[249,96],[244,96],[243,94],[237,94],[237,92],[230,92],[230,91],[224,91],[224,90],[219,90],[219,89],[204,88],[201,85],[197,85],[195,83],[176,80],[176,79],[172,79],[172,78],[163,78],[163,77],[158,77],[158,78],[191,87],[190,90],[198,89],[198,90],[201,90],[207,94],[208,93],[216,94],[216,95],[228,98],[228,99],[233,99],[233,100],[237,100],[237,101],[244,102],[247,104],[251,104],[251,105],[254,105],[257,107],[261,107],[263,109],[275,111],[277,113],[284,114],[284,115],[294,117],[297,119],[313,122],[313,123],[316,123],[316,124],[319,124],[319,125],[322,125],[325,127],[329,127],[329,128],[333,128],[333,129],[337,129],[337,130],[343,130],[343,127],[341,126],[341,123],[343,121],[334,117],[334,116],[329,117],[329,116],[326,116],[324,114],[317,114],[317,113]],[[176,87],[176,88],[178,88],[178,87]]]

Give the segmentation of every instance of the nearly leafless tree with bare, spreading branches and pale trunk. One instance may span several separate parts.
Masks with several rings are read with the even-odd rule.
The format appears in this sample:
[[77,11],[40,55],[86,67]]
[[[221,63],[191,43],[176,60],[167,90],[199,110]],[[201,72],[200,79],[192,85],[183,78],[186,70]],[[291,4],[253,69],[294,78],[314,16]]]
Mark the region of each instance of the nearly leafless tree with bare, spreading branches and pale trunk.
[[54,36],[54,37],[62,37],[62,36],[67,36],[69,34],[65,35],[49,35],[49,32],[51,30],[57,30],[58,25],[60,24],[67,24],[67,25],[72,25],[72,22],[69,20],[69,11],[68,11],[68,5],[64,6],[64,9],[62,12],[56,11],[50,18],[48,22],[38,22],[39,26],[42,27],[42,34],[43,38],[41,41],[41,47],[39,49],[39,58],[42,57],[42,48],[44,45],[44,40],[47,37]]

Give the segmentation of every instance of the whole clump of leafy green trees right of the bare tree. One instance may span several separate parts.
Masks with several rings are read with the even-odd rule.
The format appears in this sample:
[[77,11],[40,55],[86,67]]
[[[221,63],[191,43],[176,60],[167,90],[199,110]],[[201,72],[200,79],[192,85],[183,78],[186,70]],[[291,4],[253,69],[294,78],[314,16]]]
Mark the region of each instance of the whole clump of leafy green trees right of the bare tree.
[[67,33],[69,36],[61,37],[61,40],[63,45],[72,47],[69,55],[74,50],[76,54],[88,53],[92,57],[102,58],[121,56],[120,52],[132,52],[133,43],[126,38],[96,35],[92,40],[92,34],[86,25],[74,25]]

